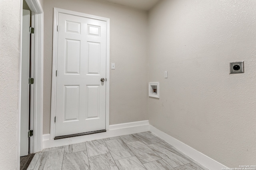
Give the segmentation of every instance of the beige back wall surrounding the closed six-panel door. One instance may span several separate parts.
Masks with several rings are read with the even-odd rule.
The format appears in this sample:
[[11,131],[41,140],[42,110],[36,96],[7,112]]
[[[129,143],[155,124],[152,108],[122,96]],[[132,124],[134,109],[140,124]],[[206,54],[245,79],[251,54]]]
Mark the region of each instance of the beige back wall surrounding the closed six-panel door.
[[147,12],[98,0],[44,0],[43,133],[50,133],[54,7],[110,18],[110,125],[147,120]]

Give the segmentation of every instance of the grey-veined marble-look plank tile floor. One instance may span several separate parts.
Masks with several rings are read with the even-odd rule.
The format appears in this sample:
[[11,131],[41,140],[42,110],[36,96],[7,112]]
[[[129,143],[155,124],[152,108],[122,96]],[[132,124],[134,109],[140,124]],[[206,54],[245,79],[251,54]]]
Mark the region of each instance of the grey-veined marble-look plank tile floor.
[[150,132],[44,149],[27,170],[208,170]]

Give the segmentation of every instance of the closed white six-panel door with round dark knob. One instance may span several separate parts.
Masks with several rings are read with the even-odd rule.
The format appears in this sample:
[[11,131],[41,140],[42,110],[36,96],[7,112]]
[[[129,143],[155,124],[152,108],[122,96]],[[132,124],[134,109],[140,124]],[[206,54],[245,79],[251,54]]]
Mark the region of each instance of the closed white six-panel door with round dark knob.
[[106,128],[101,78],[106,78],[106,21],[58,13],[55,137]]

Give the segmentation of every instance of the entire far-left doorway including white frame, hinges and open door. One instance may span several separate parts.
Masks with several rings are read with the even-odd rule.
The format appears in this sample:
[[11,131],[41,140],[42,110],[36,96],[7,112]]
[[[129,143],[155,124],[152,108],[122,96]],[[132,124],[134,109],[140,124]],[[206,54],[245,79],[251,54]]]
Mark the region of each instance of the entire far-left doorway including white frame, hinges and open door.
[[[28,163],[28,160],[32,160],[33,153],[42,149],[43,10],[39,0],[23,0],[20,7],[26,11],[22,11],[21,15],[21,55],[19,61],[18,105],[20,120],[18,131],[20,140],[18,143],[19,154],[17,156],[20,161],[17,163],[18,167],[22,169],[21,165],[24,168],[24,160],[25,164]],[[24,14],[28,15],[25,17],[26,19],[23,18]],[[26,27],[23,28],[25,25],[23,21],[25,20]],[[32,33],[33,29],[30,27],[35,28],[34,33]],[[31,35],[30,32],[32,33]],[[34,84],[31,78],[34,78]],[[29,130],[33,130],[33,132]],[[29,153],[30,158],[28,160],[20,157]],[[21,161],[23,161],[22,164]]]

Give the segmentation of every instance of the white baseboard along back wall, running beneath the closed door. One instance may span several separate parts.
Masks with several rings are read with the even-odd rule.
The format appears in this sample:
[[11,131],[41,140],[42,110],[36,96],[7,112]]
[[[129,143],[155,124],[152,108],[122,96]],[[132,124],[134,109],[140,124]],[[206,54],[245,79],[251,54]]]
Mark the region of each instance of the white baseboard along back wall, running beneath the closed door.
[[78,137],[57,139],[57,140],[50,139],[50,134],[44,134],[43,149],[51,148],[51,147],[60,147],[64,145],[71,145],[75,143],[93,141],[93,140],[109,138],[109,137],[116,137],[121,135],[129,135],[133,133],[140,133],[140,132],[146,132],[146,131],[149,131],[148,120],[109,125],[109,130],[107,130],[106,132],[78,136]]

